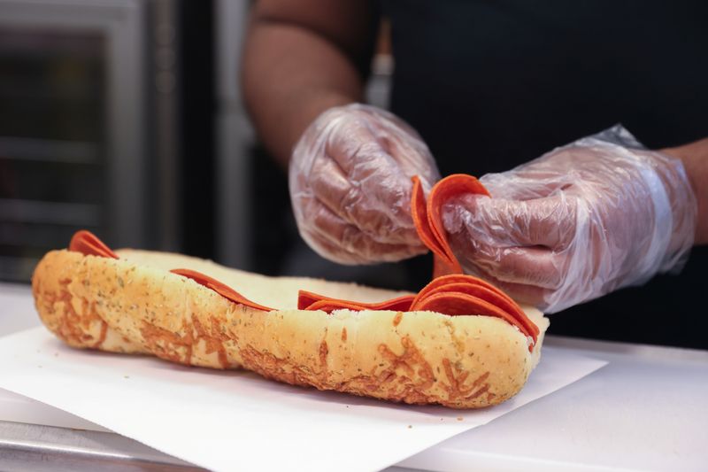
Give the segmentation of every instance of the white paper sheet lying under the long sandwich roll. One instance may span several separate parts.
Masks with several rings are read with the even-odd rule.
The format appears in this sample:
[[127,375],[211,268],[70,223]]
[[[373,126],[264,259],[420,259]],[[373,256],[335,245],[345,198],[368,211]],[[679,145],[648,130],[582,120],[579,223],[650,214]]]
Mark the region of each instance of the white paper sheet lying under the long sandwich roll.
[[0,339],[0,388],[214,470],[386,468],[604,364],[543,348],[541,364],[517,397],[458,411],[292,387],[241,371],[78,351],[43,328]]

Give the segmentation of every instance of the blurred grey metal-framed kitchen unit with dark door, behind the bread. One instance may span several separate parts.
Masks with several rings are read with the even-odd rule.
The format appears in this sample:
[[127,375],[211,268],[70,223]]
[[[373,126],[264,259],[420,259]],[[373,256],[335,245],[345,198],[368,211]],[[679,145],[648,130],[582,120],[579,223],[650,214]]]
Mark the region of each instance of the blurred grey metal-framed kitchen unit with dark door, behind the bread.
[[211,255],[213,6],[0,0],[0,280],[77,228]]

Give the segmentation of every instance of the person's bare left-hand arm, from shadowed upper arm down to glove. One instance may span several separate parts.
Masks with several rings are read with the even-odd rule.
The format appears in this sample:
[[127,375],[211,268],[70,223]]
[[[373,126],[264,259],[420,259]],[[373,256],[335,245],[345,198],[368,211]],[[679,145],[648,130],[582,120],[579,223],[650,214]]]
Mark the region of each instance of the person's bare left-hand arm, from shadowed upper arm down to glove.
[[242,89],[269,151],[287,165],[320,112],[362,100],[376,27],[361,0],[260,0],[250,15]]

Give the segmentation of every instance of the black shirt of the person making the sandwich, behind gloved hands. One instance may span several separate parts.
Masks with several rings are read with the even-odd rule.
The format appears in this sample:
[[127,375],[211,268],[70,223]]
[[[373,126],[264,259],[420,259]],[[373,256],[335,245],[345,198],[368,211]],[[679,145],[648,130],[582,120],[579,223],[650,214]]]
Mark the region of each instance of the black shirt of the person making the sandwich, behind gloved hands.
[[[508,170],[616,123],[650,148],[708,136],[708,3],[390,0],[382,12],[391,109],[443,175]],[[706,348],[707,269],[695,248],[681,275],[551,315],[550,332]]]

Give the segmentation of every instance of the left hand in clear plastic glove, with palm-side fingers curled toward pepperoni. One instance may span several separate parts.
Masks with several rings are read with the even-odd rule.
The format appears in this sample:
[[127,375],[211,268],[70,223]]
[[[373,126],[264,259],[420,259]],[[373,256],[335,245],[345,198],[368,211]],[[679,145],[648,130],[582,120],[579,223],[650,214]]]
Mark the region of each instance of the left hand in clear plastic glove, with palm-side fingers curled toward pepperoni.
[[300,235],[342,264],[410,258],[427,251],[411,217],[411,177],[440,178],[420,136],[364,104],[319,115],[296,144],[289,187]]

